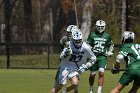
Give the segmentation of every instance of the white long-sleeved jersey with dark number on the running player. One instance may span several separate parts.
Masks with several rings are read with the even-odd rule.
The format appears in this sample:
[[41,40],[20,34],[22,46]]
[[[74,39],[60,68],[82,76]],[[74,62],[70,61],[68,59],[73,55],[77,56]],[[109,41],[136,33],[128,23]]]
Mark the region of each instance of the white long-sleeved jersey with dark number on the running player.
[[[60,66],[62,67],[77,70],[82,64],[85,64],[88,59],[96,59],[91,47],[86,42],[83,42],[81,48],[77,49],[73,42],[70,41],[69,48],[71,48],[72,54],[61,60]],[[64,52],[64,50],[62,52]]]

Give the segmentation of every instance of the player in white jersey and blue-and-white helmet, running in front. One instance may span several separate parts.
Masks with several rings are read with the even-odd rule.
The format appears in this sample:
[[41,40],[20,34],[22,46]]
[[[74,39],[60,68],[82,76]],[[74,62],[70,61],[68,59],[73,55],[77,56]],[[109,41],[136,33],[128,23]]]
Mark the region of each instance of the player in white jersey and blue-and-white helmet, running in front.
[[70,41],[69,48],[64,48],[61,55],[61,62],[56,74],[55,84],[50,93],[57,93],[66,84],[67,79],[71,84],[61,93],[67,93],[78,84],[77,76],[90,68],[96,61],[90,46],[82,42],[81,31],[73,32],[73,39]]

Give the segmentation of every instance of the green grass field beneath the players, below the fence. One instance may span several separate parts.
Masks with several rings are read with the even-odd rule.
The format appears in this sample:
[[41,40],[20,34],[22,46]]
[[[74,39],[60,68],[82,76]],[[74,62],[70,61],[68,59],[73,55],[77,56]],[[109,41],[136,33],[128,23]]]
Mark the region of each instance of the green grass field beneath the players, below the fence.
[[[56,70],[46,69],[1,69],[0,93],[49,93],[54,83],[55,74]],[[112,75],[110,71],[105,72],[103,93],[109,93],[117,84],[121,74],[122,72],[117,75]],[[89,71],[80,76],[79,93],[88,93],[88,76]],[[96,91],[97,78],[95,83]],[[121,93],[127,93],[130,87],[131,84]]]

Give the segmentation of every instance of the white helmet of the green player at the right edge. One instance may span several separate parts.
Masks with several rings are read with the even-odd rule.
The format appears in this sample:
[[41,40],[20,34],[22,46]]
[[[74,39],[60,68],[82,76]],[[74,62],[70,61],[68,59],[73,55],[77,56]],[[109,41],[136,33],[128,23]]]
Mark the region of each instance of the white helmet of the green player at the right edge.
[[135,38],[134,32],[125,31],[122,34],[121,40],[122,40],[122,43],[129,43],[129,42],[133,42],[134,38]]

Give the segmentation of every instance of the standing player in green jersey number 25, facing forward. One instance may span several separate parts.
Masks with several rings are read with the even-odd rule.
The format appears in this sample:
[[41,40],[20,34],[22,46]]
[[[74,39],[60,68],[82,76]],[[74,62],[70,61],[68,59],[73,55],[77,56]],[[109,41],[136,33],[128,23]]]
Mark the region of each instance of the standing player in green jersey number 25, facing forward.
[[89,77],[89,93],[93,93],[93,84],[96,75],[96,71],[99,71],[98,90],[97,93],[101,93],[104,82],[104,69],[106,66],[107,56],[111,56],[114,50],[114,44],[111,36],[105,32],[105,21],[98,20],[96,22],[96,31],[91,32],[87,38],[87,43],[91,45],[92,51],[97,57],[96,64],[90,68]]

